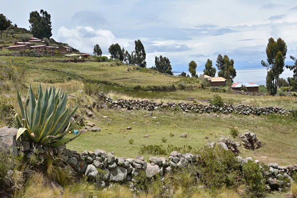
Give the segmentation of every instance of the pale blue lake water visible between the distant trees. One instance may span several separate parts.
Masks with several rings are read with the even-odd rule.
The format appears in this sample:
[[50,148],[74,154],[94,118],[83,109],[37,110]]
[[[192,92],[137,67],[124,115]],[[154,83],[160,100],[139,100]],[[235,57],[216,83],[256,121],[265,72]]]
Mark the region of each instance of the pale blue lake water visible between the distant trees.
[[[256,83],[258,85],[266,85],[266,68],[253,68],[253,69],[236,69],[237,76],[234,79],[234,82],[240,83]],[[175,72],[174,75],[179,75],[182,72]],[[186,72],[190,74],[190,72]],[[203,74],[203,71],[197,71],[198,76]],[[216,75],[217,76],[217,75]],[[293,77],[293,71],[290,69],[285,69],[285,71],[281,74],[281,78],[287,80],[288,77]]]

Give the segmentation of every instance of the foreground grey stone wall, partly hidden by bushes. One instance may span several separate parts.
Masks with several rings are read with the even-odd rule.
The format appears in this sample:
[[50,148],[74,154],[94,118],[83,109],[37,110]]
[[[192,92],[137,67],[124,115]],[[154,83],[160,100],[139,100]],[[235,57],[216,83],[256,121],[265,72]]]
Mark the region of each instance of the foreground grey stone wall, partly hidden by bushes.
[[[27,157],[36,155],[38,159],[48,157],[47,152],[51,155],[59,155],[76,173],[84,174],[90,180],[96,180],[101,187],[109,186],[109,183],[114,182],[129,183],[133,176],[138,176],[142,171],[145,172],[148,179],[158,174],[163,181],[164,175],[174,169],[188,168],[190,164],[199,166],[199,155],[191,153],[182,154],[172,151],[168,158],[151,156],[146,161],[139,155],[135,158],[116,157],[111,152],[106,153],[101,149],[96,149],[94,152],[85,150],[82,153],[77,153],[65,146],[47,149],[42,146],[33,147],[27,141],[15,141],[16,133],[17,129],[0,128],[0,144],[8,146],[11,154],[23,152]],[[38,152],[34,152],[34,149],[38,149]],[[247,163],[248,160],[259,163],[258,160],[253,160],[251,157],[243,159],[238,156],[237,159],[241,164]],[[268,167],[269,171],[263,169],[263,175],[268,178],[267,188],[277,191],[288,190],[291,183],[294,182],[291,176],[293,171],[297,171],[297,165],[279,166],[271,163],[268,164]],[[285,189],[280,189],[281,187]],[[133,189],[134,187],[131,188],[136,190]]]

